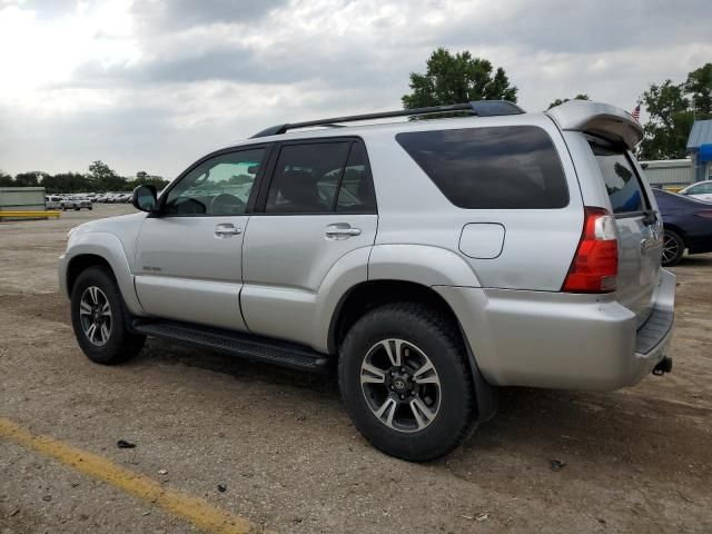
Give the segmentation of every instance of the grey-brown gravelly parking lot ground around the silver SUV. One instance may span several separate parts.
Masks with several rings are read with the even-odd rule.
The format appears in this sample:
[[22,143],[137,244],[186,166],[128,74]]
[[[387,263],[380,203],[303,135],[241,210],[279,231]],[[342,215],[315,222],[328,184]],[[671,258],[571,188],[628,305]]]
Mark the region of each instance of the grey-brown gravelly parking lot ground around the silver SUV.
[[[89,362],[57,256],[71,227],[131,210],[0,224],[0,423],[274,532],[712,532],[712,255],[672,269],[671,375],[614,393],[505,389],[463,447],[408,464],[360,437],[333,376],[158,339],[118,367]],[[0,432],[0,533],[196,531],[160,498]]]

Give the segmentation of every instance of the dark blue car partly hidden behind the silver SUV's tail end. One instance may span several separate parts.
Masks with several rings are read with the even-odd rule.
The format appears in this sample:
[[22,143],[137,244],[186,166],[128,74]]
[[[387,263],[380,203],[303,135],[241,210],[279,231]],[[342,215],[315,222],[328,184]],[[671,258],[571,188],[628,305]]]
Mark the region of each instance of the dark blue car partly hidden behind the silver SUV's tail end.
[[709,202],[653,189],[665,229],[663,265],[675,265],[688,254],[712,251],[712,206]]

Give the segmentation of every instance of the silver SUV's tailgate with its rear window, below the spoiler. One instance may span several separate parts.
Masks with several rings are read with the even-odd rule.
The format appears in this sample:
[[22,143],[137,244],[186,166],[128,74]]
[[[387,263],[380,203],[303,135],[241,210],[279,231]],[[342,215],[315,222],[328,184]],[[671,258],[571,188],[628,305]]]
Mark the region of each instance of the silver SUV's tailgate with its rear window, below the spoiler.
[[663,248],[662,221],[634,156],[604,139],[589,136],[587,140],[617,226],[616,299],[635,313],[640,326],[653,307]]

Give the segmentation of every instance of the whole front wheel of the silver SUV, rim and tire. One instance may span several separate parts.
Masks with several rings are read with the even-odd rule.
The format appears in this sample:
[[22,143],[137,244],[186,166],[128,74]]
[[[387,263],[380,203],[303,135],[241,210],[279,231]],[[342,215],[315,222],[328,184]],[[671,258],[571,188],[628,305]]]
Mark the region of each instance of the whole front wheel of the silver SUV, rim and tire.
[[71,323],[89,359],[113,365],[136,356],[146,336],[132,334],[113,274],[103,267],[83,270],[71,291]]

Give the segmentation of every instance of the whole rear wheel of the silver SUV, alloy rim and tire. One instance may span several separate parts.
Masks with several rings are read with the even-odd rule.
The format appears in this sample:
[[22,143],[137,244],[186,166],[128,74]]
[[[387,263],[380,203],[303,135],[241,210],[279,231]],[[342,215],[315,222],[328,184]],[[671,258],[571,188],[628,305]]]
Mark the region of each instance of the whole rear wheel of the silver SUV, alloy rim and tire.
[[369,312],[339,356],[339,387],[354,425],[398,458],[425,462],[449,453],[474,424],[465,354],[456,325],[423,305]]

